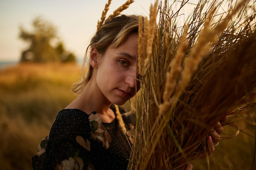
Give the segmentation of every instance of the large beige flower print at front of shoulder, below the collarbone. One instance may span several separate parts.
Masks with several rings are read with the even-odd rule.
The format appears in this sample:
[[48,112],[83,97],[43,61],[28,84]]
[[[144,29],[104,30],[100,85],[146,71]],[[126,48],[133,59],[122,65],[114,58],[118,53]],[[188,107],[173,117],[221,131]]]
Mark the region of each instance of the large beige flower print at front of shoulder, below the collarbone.
[[103,147],[108,149],[111,143],[111,136],[101,122],[101,117],[97,112],[89,115],[91,139],[102,141]]

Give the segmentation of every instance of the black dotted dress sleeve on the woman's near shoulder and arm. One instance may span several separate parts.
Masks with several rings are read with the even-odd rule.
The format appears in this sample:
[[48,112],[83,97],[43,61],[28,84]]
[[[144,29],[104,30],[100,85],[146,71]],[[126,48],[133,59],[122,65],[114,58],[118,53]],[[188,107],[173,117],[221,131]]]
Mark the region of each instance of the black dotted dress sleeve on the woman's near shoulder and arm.
[[47,170],[82,169],[90,163],[90,123],[87,114],[60,112],[52,125],[45,152]]

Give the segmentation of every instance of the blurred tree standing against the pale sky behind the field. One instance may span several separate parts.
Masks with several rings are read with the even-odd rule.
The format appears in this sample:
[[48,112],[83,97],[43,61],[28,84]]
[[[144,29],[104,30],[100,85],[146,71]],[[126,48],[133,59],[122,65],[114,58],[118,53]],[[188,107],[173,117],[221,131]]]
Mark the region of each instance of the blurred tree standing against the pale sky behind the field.
[[21,53],[20,62],[75,62],[73,53],[65,51],[62,42],[54,47],[57,40],[56,28],[41,17],[33,20],[34,31],[26,31],[20,26],[20,39],[30,43],[29,48]]

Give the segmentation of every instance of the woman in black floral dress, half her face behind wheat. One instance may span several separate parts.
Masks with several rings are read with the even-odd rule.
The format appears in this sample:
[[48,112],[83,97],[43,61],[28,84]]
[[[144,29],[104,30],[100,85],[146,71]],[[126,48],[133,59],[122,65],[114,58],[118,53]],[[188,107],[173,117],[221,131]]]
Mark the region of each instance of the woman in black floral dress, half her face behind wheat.
[[[56,116],[49,139],[42,141],[33,157],[34,169],[127,169],[131,142],[117,105],[139,90],[138,25],[138,16],[121,15],[105,22],[94,35],[88,46],[88,75],[73,89],[80,95]],[[217,129],[219,134],[223,130]],[[216,131],[213,140],[208,138],[209,153],[219,140]],[[191,169],[189,164],[187,170]]]

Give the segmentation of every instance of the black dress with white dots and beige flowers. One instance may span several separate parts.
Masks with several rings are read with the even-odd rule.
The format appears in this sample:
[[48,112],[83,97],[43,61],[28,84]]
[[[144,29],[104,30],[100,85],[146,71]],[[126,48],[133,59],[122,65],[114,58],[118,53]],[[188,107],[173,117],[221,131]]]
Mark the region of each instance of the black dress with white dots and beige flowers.
[[34,170],[126,170],[131,144],[117,124],[96,112],[61,110],[32,158]]

